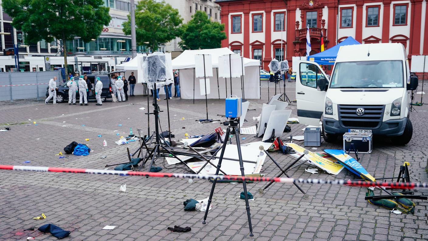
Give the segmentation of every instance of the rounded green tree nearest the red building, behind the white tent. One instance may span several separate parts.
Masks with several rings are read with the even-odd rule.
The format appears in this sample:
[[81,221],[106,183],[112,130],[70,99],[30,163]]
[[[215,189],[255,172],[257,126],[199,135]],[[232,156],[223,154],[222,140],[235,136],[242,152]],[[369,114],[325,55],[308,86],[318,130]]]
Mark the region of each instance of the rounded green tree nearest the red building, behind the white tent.
[[183,49],[220,48],[221,40],[226,39],[224,24],[211,21],[203,11],[196,11],[183,27],[183,41],[180,42]]

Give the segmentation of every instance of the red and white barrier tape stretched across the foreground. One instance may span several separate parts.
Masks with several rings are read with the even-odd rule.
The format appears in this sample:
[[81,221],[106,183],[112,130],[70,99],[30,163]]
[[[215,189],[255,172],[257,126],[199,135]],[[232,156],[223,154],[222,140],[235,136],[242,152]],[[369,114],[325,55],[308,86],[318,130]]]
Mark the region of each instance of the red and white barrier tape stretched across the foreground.
[[198,178],[198,179],[217,179],[230,181],[274,181],[279,183],[309,183],[309,184],[330,184],[341,186],[355,187],[391,187],[395,189],[413,189],[413,188],[428,188],[427,183],[403,183],[403,182],[373,182],[373,181],[351,181],[351,180],[323,180],[323,179],[303,179],[303,178],[269,178],[269,177],[241,177],[227,175],[202,175],[202,174],[184,174],[184,173],[165,173],[165,172],[126,172],[116,170],[101,170],[101,169],[77,169],[77,168],[62,168],[62,167],[47,167],[47,166],[6,166],[0,165],[3,170],[15,171],[33,171],[33,172],[73,172],[73,173],[90,173],[90,174],[110,174],[110,175],[131,175],[145,176],[155,178]]

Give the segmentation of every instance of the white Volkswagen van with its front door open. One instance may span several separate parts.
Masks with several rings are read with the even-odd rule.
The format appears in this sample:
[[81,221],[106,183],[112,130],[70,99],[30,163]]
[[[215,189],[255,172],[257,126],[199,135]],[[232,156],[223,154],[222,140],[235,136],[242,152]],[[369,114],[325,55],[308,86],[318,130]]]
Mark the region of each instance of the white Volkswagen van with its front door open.
[[410,97],[417,86],[401,43],[347,45],[339,49],[330,81],[317,63],[299,62],[297,116],[314,126],[322,116],[327,142],[351,131],[405,145],[412,138]]

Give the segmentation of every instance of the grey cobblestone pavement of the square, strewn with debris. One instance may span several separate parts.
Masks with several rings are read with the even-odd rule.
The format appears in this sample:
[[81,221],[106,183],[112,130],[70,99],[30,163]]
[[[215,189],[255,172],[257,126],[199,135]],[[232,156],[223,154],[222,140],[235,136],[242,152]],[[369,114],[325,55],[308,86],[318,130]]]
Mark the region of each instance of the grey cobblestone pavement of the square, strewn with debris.
[[[270,84],[269,95],[273,92],[274,86]],[[290,99],[295,98],[294,83],[287,85],[287,94]],[[267,100],[267,83],[263,83],[262,99],[250,100],[250,109],[256,111],[247,113],[246,126],[255,124],[252,117],[260,114],[262,103]],[[0,103],[0,127],[18,123],[9,126],[12,130],[0,133],[0,164],[103,169],[106,164],[126,162],[126,148],[133,152],[138,142],[123,146],[114,142],[119,136],[127,135],[130,127],[134,133],[137,129],[147,133],[147,115],[141,107],[147,108],[147,99],[143,96],[130,97],[122,103],[105,102],[102,107],[93,101],[89,106],[45,105],[35,101]],[[288,107],[292,117],[297,114],[295,107],[295,103]],[[161,128],[167,130],[165,100],[160,101],[160,108],[164,111],[160,114]],[[398,175],[399,166],[409,161],[412,180],[428,181],[428,107],[415,108],[418,112],[411,113],[413,139],[408,145],[397,147],[388,139],[375,137],[373,153],[361,155],[362,165],[375,177]],[[224,100],[208,100],[208,109],[210,117],[217,118],[217,114],[223,113]],[[172,99],[169,112],[175,140],[184,138],[185,133],[204,134],[220,125],[195,121],[205,116],[204,100],[195,100],[193,104],[192,100]],[[150,118],[150,130],[154,130],[153,117]],[[303,135],[303,127],[292,124],[291,135]],[[282,138],[289,135],[284,133]],[[245,137],[242,143],[259,140]],[[84,143],[94,150],[89,156],[65,155],[68,158],[58,159],[55,155],[70,142],[83,142],[86,138],[89,142]],[[107,147],[102,145],[104,139]],[[340,147],[339,141],[323,142],[318,150]],[[281,166],[294,160],[289,155],[272,155]],[[101,159],[103,156],[107,158]],[[26,160],[31,163],[24,164]],[[161,160],[157,165],[162,166]],[[169,169],[162,171],[183,172],[174,166],[166,167]],[[323,172],[310,174],[305,172],[307,167],[303,164],[288,174],[294,178],[355,178],[346,169],[335,177]],[[278,169],[266,159],[262,173],[273,176]],[[122,184],[127,184],[125,193],[119,192]],[[415,214],[397,215],[366,202],[365,188],[303,184],[303,190],[309,194],[309,199],[303,199],[302,193],[289,184],[275,183],[263,194],[258,193],[264,185],[262,182],[247,184],[255,197],[250,201],[254,232],[254,237],[250,237],[244,200],[239,199],[241,184],[217,184],[213,208],[207,224],[203,225],[203,213],[185,212],[183,201],[208,197],[211,183],[205,180],[194,180],[190,184],[187,179],[177,178],[0,171],[0,240],[25,240],[29,236],[36,236],[36,240],[56,240],[37,229],[23,231],[45,223],[72,231],[66,240],[87,241],[428,239],[427,201],[416,202]],[[428,191],[417,193],[427,195]],[[42,213],[46,214],[46,220],[32,219]],[[103,230],[106,225],[116,228]],[[192,230],[174,233],[166,229],[174,225],[190,226]],[[23,235],[15,235],[21,231]]]

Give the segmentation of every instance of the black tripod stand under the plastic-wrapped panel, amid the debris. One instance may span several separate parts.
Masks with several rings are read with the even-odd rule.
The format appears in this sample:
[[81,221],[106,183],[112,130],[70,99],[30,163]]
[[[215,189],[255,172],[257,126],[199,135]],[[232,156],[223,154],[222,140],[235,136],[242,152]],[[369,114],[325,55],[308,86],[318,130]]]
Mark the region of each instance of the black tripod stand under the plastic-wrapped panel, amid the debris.
[[[155,92],[155,94],[153,94],[153,112],[152,113],[145,113],[145,114],[155,115],[155,133],[153,133],[153,135],[152,135],[152,138],[155,139],[155,146],[150,150],[150,148],[149,148],[150,144],[148,146],[148,145],[146,145],[145,140],[142,141],[143,145],[146,148],[146,155],[145,155],[144,159],[146,159],[146,158],[147,159],[144,160],[141,165],[143,166],[149,160],[149,158],[152,158],[152,161],[150,162],[150,166],[149,166],[149,172],[150,172],[150,169],[152,169],[152,166],[153,166],[153,163],[155,163],[155,160],[158,159],[159,157],[163,157],[163,153],[164,153],[164,151],[166,151],[186,166],[186,163],[184,163],[172,151],[170,151],[169,148],[166,148],[164,146],[167,144],[165,143],[165,140],[159,134],[159,113],[163,112],[163,111],[160,111],[160,108],[158,105],[158,99],[156,98],[156,82],[154,83],[153,89]],[[166,96],[168,96],[168,94],[166,94]],[[162,143],[160,141],[160,139],[163,139],[164,142]],[[152,143],[152,141],[150,143]],[[167,146],[169,147],[169,145],[167,145]]]

